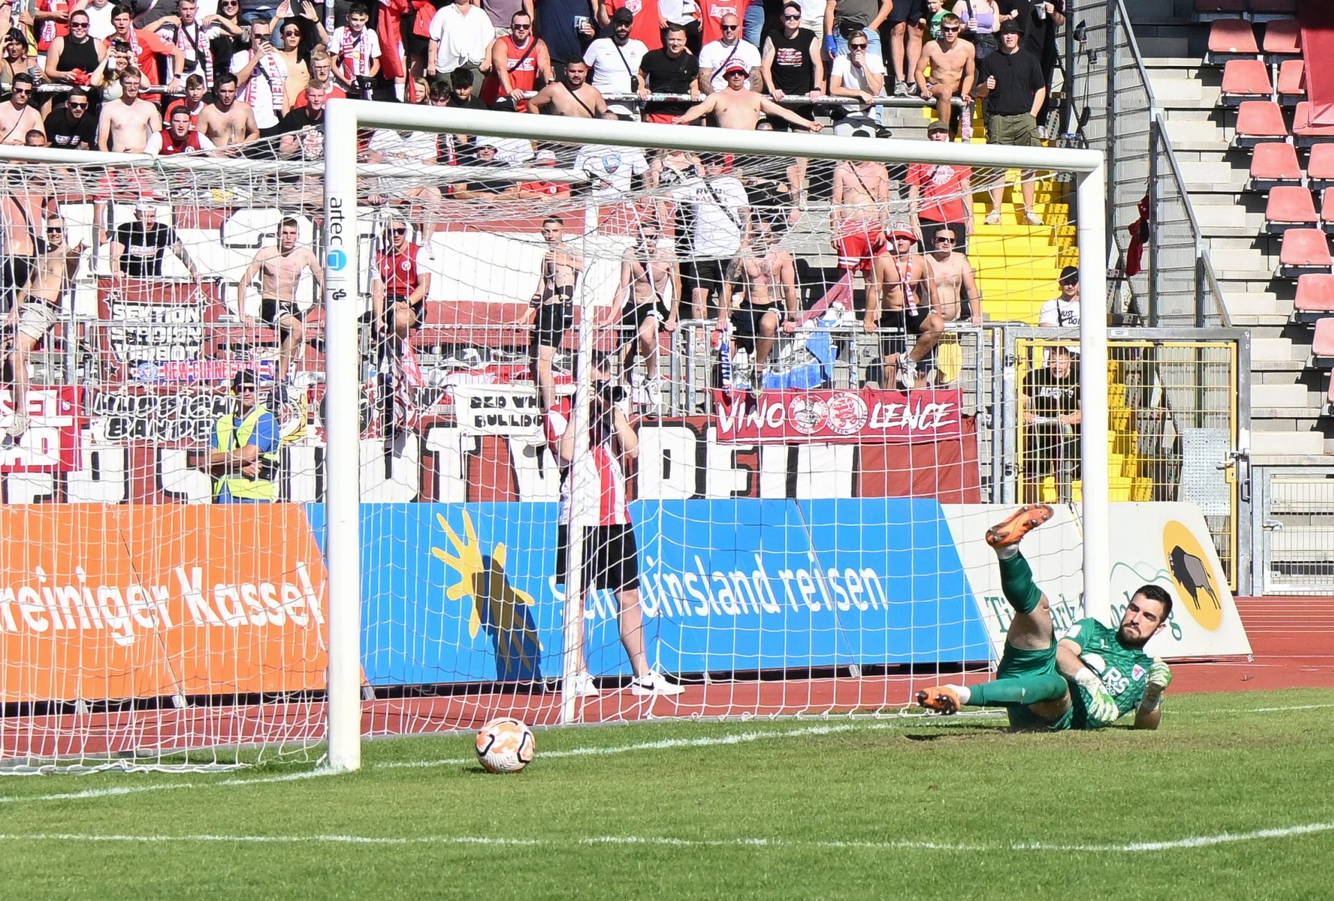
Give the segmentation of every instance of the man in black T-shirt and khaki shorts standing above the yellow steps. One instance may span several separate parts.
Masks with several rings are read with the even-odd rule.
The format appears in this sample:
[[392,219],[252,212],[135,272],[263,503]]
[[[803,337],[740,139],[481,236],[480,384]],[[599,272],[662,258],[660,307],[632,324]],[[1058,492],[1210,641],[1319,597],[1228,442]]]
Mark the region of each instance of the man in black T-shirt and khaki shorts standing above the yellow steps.
[[[1023,29],[1013,19],[1000,25],[1000,47],[978,63],[976,93],[986,97],[987,143],[1013,147],[1039,147],[1038,111],[1047,96],[1047,85],[1042,80],[1042,67],[1038,57],[1019,49],[1019,36]],[[1023,222],[1041,226],[1042,219],[1034,211],[1033,172],[1021,176],[1019,190],[1023,196]],[[1000,200],[1005,196],[1005,176],[1000,184],[991,188],[991,212],[987,224],[1000,223]]]

